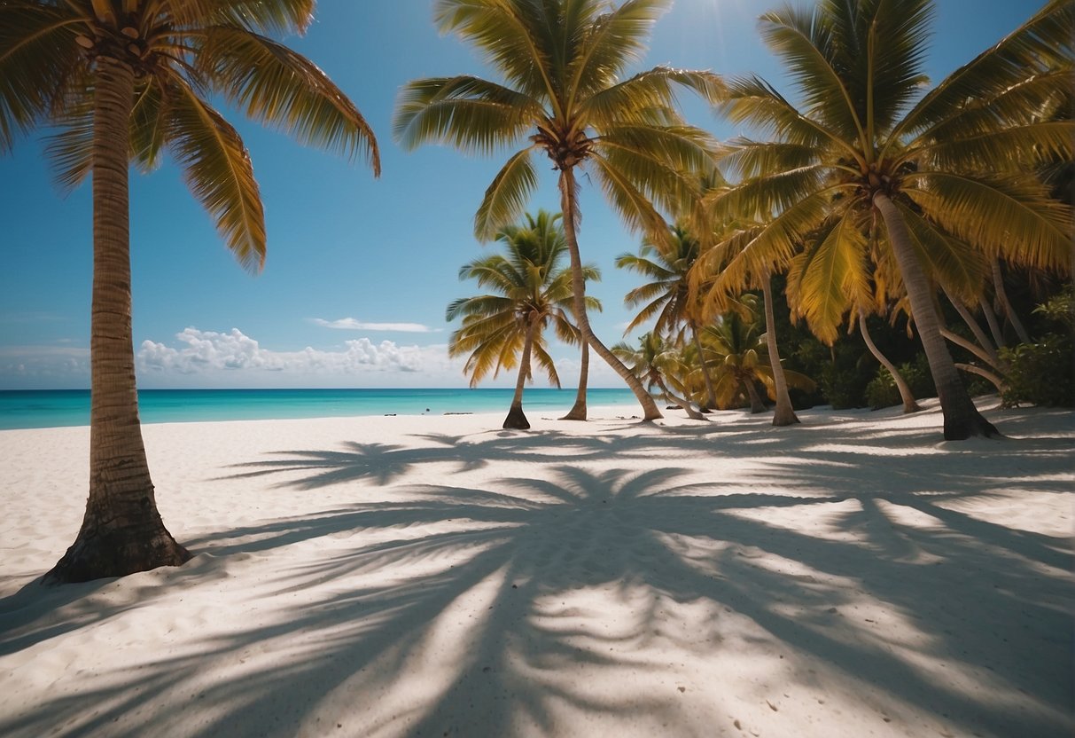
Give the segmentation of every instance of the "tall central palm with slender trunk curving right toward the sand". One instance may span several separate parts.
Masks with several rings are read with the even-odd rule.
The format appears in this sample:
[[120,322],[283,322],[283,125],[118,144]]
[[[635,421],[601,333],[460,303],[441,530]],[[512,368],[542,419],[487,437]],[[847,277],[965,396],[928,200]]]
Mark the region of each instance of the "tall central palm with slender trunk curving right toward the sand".
[[627,382],[645,420],[661,416],[636,378],[593,335],[585,311],[578,252],[577,168],[604,191],[632,228],[668,238],[655,203],[672,212],[698,195],[712,167],[714,142],[686,126],[674,108],[674,85],[715,101],[719,79],[707,72],[657,67],[621,79],[644,51],[669,0],[435,0],[438,28],[485,53],[504,83],[459,75],[406,84],[396,111],[396,139],[406,148],[439,142],[489,154],[518,147],[492,183],[474,218],[478,240],[514,221],[538,186],[535,154],[558,172],[560,209],[571,253],[574,311],[586,342]]

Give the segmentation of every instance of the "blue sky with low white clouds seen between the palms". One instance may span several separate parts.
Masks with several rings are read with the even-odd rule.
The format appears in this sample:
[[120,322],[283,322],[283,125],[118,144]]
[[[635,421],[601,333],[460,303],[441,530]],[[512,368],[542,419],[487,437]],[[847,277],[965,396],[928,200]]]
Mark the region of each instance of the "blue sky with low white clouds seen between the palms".
[[[779,3],[675,0],[655,27],[644,67],[668,63],[723,75],[758,73],[791,94],[757,33],[757,17]],[[133,328],[144,387],[462,386],[447,359],[444,310],[476,294],[459,267],[494,245],[472,236],[474,210],[505,155],[475,158],[391,140],[400,85],[422,76],[478,73],[482,59],[440,37],[429,0],[321,0],[302,38],[288,42],[356,102],[381,145],[383,175],[348,164],[226,111],[242,132],[266,204],[269,256],[250,276],[210,217],[164,165],[131,179]],[[941,80],[995,43],[1038,6],[1024,0],[938,0],[927,71]],[[696,101],[694,125],[727,138],[741,131]],[[745,131],[744,131],[745,132]],[[0,389],[89,386],[91,213],[88,183],[63,196],[40,137],[0,158]],[[558,209],[554,173],[530,209]],[[603,280],[593,315],[605,343],[631,315],[622,296],[635,278],[615,257],[635,251],[599,191],[584,185],[583,258]],[[561,379],[575,381],[575,350],[561,346]],[[597,363],[596,363],[597,364]],[[489,385],[508,384],[501,377]],[[618,386],[594,366],[591,384]]]

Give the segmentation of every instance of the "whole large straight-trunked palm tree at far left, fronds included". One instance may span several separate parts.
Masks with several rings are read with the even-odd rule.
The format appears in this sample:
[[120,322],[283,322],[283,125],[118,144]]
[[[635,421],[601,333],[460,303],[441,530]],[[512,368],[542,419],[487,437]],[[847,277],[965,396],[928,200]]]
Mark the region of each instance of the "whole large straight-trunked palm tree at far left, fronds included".
[[264,259],[260,196],[219,94],[254,118],[379,170],[358,110],[312,62],[262,33],[302,31],[313,0],[6,0],[0,3],[0,152],[56,126],[62,183],[92,172],[89,498],[49,582],[180,565],[189,553],[157,512],[134,384],[128,167],[169,148],[239,261]]

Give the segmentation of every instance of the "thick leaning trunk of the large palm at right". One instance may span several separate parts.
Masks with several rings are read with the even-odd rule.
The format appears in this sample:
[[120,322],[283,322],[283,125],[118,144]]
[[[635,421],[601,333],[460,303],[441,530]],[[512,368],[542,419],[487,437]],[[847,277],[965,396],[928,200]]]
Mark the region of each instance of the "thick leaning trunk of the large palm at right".
[[944,414],[945,440],[958,441],[972,436],[1000,437],[997,428],[974,407],[959,378],[951,354],[948,353],[948,346],[941,336],[941,321],[933,308],[930,286],[911,245],[911,236],[907,233],[903,216],[884,193],[875,194],[873,201],[885,221],[892,253],[900,266],[903,284],[911,299],[911,310],[914,313],[915,325],[918,326],[918,336],[926,350],[926,358],[929,359],[930,373],[933,374],[937,398],[941,400],[941,411]]

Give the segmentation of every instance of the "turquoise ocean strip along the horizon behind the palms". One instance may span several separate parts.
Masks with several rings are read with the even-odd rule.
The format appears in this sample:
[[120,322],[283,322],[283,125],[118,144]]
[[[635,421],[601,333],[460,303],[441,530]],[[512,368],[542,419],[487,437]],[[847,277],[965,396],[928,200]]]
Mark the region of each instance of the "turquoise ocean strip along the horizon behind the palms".
[[[486,389],[142,389],[143,423],[259,421],[348,415],[507,412],[514,391]],[[567,413],[574,389],[532,387],[527,411]],[[590,406],[634,406],[630,389],[587,391]],[[0,391],[0,430],[89,424],[88,389]]]

